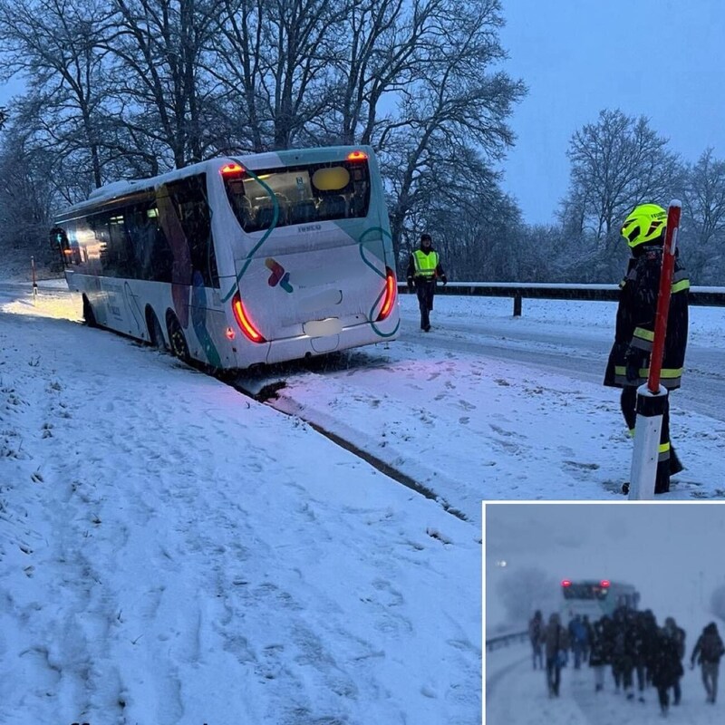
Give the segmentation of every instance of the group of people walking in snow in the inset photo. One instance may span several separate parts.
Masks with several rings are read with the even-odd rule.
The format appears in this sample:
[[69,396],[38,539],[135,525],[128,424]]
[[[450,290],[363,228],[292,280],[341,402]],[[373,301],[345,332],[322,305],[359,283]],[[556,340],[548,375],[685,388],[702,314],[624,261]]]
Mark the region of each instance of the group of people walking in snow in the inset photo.
[[[604,690],[604,674],[610,668],[614,691],[622,691],[628,700],[638,697],[644,701],[644,691],[653,687],[662,715],[670,708],[671,691],[672,705],[680,704],[686,634],[673,617],[667,617],[659,626],[651,610],[637,612],[621,607],[611,617],[604,615],[594,622],[576,615],[565,627],[559,614],[551,614],[544,623],[537,611],[529,622],[528,633],[534,669],[546,668],[549,697],[559,696],[561,670],[571,652],[575,669],[586,663],[594,670],[596,692]],[[710,622],[692,648],[690,664],[691,668],[700,665],[707,702],[711,704],[717,698],[723,653],[725,646],[717,624]]]

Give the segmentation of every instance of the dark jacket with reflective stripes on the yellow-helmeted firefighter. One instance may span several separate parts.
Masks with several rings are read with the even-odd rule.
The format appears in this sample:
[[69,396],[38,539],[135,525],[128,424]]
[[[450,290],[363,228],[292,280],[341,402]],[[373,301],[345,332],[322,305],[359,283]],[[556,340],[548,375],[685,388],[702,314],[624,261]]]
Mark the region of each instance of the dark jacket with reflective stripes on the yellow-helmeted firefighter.
[[[637,252],[637,256],[630,259],[627,275],[620,283],[614,345],[604,373],[604,385],[616,388],[643,385],[650,374],[649,353],[652,352],[654,319],[660,291],[662,247],[645,246]],[[670,390],[679,388],[681,382],[687,346],[689,289],[687,272],[680,260],[675,258],[660,380]],[[636,382],[628,382],[626,377],[625,355],[630,347],[635,353],[643,353],[640,378]]]

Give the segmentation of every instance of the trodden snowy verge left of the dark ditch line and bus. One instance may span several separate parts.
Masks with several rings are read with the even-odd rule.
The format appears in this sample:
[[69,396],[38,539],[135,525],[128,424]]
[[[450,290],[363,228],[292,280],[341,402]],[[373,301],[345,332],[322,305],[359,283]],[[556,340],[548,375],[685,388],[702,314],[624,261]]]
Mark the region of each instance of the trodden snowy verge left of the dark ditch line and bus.
[[0,312],[0,722],[478,723],[478,528],[76,302]]

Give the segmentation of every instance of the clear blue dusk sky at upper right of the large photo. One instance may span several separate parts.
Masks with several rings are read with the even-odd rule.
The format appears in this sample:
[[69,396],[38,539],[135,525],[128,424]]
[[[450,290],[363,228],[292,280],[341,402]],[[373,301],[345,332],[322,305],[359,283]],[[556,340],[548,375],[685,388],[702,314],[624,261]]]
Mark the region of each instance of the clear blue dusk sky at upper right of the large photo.
[[[501,0],[505,68],[527,83],[504,188],[547,223],[568,185],[572,134],[599,111],[646,116],[688,161],[725,159],[722,0]],[[664,199],[669,201],[669,199]]]

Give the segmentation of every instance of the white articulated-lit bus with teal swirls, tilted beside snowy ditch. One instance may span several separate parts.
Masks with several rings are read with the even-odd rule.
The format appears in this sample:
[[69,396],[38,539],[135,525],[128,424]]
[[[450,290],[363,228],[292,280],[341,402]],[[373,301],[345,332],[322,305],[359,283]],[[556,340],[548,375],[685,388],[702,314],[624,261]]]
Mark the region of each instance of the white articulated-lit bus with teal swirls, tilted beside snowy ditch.
[[225,157],[116,182],[59,214],[51,241],[88,324],[216,370],[399,333],[369,147]]

